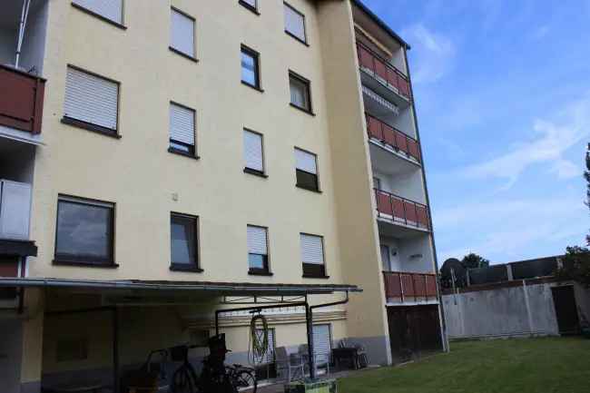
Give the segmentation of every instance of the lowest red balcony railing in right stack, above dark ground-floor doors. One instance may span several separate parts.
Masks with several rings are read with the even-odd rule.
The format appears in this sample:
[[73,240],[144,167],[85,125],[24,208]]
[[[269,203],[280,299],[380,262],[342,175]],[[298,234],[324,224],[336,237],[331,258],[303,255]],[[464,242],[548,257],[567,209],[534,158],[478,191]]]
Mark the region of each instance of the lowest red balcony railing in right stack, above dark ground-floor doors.
[[404,302],[437,297],[436,274],[384,271],[383,280],[387,299]]

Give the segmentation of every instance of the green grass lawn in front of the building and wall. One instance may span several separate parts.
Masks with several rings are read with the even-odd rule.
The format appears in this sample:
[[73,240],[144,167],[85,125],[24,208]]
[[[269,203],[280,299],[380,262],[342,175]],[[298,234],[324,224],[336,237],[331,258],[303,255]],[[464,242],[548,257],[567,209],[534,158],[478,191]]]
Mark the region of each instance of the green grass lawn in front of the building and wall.
[[451,352],[339,380],[339,393],[588,393],[590,339],[451,343]]

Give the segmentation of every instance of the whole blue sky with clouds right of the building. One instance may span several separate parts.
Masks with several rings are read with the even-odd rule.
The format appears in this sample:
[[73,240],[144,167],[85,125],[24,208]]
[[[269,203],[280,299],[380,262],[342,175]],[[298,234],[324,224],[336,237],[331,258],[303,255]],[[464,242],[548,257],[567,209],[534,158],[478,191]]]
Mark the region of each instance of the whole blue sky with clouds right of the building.
[[364,0],[411,50],[439,264],[585,245],[590,0]]

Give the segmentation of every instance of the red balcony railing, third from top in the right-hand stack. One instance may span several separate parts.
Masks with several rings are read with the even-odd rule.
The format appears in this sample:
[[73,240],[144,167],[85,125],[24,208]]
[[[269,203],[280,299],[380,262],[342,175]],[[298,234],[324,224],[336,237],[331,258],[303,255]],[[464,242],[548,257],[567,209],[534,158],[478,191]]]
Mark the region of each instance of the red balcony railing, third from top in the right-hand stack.
[[428,207],[415,201],[375,189],[379,217],[430,230]]

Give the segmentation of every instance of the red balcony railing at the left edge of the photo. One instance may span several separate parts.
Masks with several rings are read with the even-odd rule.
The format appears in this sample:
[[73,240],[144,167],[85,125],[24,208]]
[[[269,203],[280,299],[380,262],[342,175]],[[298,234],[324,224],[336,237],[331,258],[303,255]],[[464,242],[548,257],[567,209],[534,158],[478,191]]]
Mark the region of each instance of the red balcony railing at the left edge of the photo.
[[41,133],[45,81],[0,64],[0,125]]

